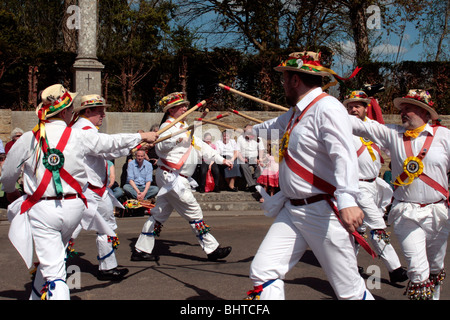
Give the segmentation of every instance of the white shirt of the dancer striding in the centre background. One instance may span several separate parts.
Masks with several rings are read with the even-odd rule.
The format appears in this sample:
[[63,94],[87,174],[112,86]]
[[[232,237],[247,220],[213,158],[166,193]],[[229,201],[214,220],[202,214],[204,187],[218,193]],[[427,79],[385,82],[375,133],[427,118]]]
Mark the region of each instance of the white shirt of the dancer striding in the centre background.
[[[175,119],[173,117],[169,117],[168,121],[164,122],[161,125],[160,130],[168,126],[174,120]],[[159,137],[165,137],[186,127],[188,127],[187,123],[178,122],[173,127],[163,132]],[[184,139],[183,141],[178,142],[180,138]],[[179,163],[183,156],[191,148],[191,142],[192,140],[190,139],[190,131],[186,131],[185,133],[181,133],[177,136],[157,143],[155,146],[155,150],[156,154],[159,157],[158,167],[164,166],[168,169],[171,169],[171,167],[168,167],[166,164],[164,164],[163,159],[169,161],[170,163]],[[187,177],[192,176],[197,167],[197,164],[201,163],[202,156],[207,159],[212,159],[218,164],[223,163],[224,159],[220,156],[220,154],[216,150],[211,148],[207,143],[203,142],[202,139],[194,138],[194,142],[195,147],[191,148],[189,156],[187,157],[183,166],[180,168],[180,174]]]

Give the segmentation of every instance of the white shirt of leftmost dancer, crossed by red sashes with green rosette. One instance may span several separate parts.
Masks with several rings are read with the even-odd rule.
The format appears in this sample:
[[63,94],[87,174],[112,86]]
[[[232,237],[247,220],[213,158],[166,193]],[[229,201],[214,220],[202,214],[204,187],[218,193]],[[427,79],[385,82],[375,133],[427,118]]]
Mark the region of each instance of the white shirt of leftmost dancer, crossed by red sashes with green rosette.
[[[67,125],[62,120],[49,120],[45,124],[49,148],[55,148],[60,140],[63,131]],[[80,184],[81,188],[86,187],[88,175],[84,166],[84,157],[87,155],[96,156],[98,153],[119,151],[121,149],[130,150],[141,141],[139,133],[133,134],[92,134],[90,130],[72,129],[70,138],[63,151],[64,169]],[[36,149],[37,140],[32,131],[25,132],[22,137],[14,143],[3,166],[3,175],[1,181],[5,192],[15,190],[16,181],[21,173],[23,164],[23,184],[24,191],[32,195],[39,186],[44,172],[46,171],[42,157],[36,167]],[[74,194],[76,191],[61,179],[63,193]],[[54,183],[51,181],[47,186],[43,197],[56,196]]]

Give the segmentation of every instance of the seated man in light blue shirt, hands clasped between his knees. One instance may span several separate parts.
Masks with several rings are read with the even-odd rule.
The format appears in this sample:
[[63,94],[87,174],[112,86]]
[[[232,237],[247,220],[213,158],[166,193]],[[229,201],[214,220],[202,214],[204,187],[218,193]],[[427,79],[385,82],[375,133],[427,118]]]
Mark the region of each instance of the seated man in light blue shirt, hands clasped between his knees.
[[123,190],[137,200],[154,198],[159,189],[152,186],[153,167],[150,162],[144,159],[145,151],[136,151],[136,159],[128,162],[127,183]]

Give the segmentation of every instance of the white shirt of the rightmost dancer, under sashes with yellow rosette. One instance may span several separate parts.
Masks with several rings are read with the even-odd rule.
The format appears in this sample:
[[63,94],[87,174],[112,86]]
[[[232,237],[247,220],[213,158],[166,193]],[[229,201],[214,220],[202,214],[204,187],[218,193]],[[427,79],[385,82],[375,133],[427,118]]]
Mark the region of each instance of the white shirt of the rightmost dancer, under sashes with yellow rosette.
[[[403,172],[403,162],[407,158],[403,133],[406,129],[400,125],[382,125],[376,122],[366,123],[359,119],[352,119],[353,133],[378,141],[380,146],[389,149],[391,153],[392,179]],[[428,133],[433,134],[433,128],[426,125],[416,139],[411,140],[414,156],[420,152]],[[448,190],[447,172],[450,170],[450,130],[439,127],[430,146],[430,150],[423,159],[423,172]],[[432,203],[445,199],[444,195],[416,178],[408,186],[398,187],[394,192],[395,199],[415,203]]]

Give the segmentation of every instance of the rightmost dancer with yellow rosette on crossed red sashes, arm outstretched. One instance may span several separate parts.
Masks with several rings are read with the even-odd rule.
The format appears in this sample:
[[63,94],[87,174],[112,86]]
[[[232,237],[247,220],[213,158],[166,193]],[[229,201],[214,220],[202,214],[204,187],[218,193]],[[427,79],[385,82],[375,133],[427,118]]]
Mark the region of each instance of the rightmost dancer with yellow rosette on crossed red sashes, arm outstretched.
[[428,124],[438,119],[433,105],[427,91],[415,89],[394,99],[402,125],[352,117],[354,134],[378,141],[390,151],[396,189],[388,222],[408,262],[410,299],[439,299],[445,278],[450,131]]

